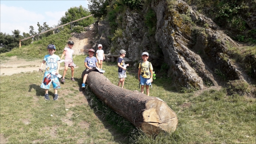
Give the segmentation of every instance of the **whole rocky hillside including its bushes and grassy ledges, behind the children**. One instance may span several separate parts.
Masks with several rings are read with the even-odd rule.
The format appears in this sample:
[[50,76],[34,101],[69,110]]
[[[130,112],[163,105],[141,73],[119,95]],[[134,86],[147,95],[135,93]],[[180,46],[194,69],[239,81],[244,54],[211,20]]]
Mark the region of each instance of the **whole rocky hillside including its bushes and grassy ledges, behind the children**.
[[[118,54],[125,49],[134,67],[141,61],[140,54],[149,52],[149,61],[167,72],[177,90],[224,87],[237,80],[256,84],[255,43],[232,39],[227,35],[232,29],[198,12],[195,3],[152,0],[141,9],[115,4],[110,4],[109,13],[96,23],[95,43],[101,43],[105,52]],[[256,95],[255,90],[250,94]]]

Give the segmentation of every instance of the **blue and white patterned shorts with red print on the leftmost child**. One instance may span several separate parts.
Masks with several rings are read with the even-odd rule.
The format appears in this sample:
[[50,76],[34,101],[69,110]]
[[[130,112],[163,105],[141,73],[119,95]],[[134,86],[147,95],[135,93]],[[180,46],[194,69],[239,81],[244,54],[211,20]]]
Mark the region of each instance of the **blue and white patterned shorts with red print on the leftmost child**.
[[49,89],[51,84],[54,89],[61,88],[59,78],[56,75],[51,74],[50,72],[45,72],[44,78],[40,87],[43,89]]

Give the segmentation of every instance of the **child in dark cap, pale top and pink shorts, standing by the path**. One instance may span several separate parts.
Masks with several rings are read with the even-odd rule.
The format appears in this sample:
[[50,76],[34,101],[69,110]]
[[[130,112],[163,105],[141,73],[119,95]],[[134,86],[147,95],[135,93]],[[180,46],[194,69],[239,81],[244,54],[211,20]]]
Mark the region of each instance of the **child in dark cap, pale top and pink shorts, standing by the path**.
[[68,67],[70,67],[71,69],[71,80],[74,82],[74,63],[73,63],[73,47],[74,45],[74,42],[73,41],[68,41],[68,48],[64,48],[63,50],[63,53],[61,55],[61,60],[63,58],[63,56],[65,55],[65,61],[64,61],[64,66],[65,66],[65,69],[64,69],[64,72],[63,72],[63,76],[62,76],[62,79],[61,79],[61,82],[62,83],[65,83],[65,75],[66,75],[66,72],[68,70]]

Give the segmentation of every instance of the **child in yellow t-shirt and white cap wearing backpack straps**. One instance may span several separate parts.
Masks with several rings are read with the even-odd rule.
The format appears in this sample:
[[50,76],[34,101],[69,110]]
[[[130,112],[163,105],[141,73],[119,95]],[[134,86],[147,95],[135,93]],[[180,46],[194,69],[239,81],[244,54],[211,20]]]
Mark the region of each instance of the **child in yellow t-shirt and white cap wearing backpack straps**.
[[143,62],[139,64],[138,79],[141,84],[140,92],[144,93],[144,84],[146,84],[146,95],[149,96],[149,85],[153,82],[153,67],[152,64],[147,61],[148,53],[143,52],[141,55]]

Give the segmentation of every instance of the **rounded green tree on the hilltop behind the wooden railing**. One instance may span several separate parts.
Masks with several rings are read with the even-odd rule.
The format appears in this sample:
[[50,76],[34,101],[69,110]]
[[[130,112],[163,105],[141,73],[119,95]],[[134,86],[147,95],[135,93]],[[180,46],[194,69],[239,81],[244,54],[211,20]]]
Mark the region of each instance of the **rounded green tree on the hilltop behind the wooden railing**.
[[[60,21],[61,21],[61,24],[67,24],[69,22],[78,20],[88,15],[91,15],[91,13],[86,8],[82,7],[82,5],[80,5],[79,7],[72,7],[68,9],[68,11],[65,12],[65,16],[62,16]],[[74,22],[72,23],[72,25],[73,26],[80,25],[85,27],[92,24],[93,22],[94,22],[94,18],[88,17],[86,19]]]

